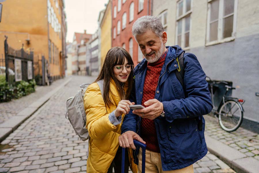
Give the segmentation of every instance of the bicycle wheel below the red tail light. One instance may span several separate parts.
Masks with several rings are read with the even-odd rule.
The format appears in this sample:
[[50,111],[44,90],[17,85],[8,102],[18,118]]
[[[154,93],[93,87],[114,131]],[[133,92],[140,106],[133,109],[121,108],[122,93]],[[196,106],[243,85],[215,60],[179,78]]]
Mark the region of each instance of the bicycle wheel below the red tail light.
[[218,121],[220,127],[228,132],[235,131],[243,121],[243,109],[235,100],[228,99],[220,107]]

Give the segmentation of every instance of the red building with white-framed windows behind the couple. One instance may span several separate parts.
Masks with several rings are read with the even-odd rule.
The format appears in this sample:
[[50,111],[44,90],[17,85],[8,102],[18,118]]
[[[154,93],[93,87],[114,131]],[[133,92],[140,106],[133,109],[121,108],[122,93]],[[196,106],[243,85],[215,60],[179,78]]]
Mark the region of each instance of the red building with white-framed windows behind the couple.
[[131,33],[133,23],[141,16],[151,15],[151,0],[112,1],[112,47],[121,46],[132,56],[134,65],[144,57]]

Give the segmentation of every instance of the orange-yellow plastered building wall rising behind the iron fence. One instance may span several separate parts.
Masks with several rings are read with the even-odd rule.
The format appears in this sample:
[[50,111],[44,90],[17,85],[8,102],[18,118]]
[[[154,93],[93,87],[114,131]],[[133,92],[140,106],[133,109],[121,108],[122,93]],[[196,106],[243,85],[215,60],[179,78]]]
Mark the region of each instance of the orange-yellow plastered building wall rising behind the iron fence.
[[[62,0],[59,0],[60,11],[56,8],[55,2],[49,0],[62,27]],[[45,56],[49,61],[48,39],[54,43],[58,51],[62,51],[62,33],[55,32],[48,22],[47,0],[7,0],[2,2],[2,17],[0,22],[0,57],[4,57],[4,40],[7,35],[7,43],[14,49],[34,51],[34,61],[38,61],[38,56]],[[62,32],[62,28],[61,28]],[[26,40],[30,40],[27,44]],[[51,51],[52,47],[51,47]],[[59,76],[60,53],[58,54],[58,64],[49,64],[51,76]],[[52,55],[53,56],[53,55]],[[53,62],[53,61],[52,61]]]

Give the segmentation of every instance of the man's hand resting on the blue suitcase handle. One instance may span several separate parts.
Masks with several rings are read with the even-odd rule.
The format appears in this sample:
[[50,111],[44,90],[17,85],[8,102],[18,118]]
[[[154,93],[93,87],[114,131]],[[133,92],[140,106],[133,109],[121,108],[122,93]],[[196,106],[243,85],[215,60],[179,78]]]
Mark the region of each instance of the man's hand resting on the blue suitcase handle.
[[146,144],[146,142],[134,131],[126,131],[125,133],[121,134],[121,136],[119,136],[119,144],[123,148],[127,147],[135,150],[136,147],[133,143],[133,139]]

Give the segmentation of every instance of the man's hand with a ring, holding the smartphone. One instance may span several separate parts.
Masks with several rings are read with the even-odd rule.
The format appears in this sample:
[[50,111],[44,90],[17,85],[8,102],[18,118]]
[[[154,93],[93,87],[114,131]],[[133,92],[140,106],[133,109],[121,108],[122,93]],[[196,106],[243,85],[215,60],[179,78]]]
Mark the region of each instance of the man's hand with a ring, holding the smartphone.
[[[158,101],[157,99],[151,99],[144,103],[146,108],[143,109],[136,109],[132,111],[132,113],[137,114],[138,116],[141,116],[142,118],[148,118],[148,119],[155,119],[163,112],[164,107],[163,103]],[[142,114],[143,113],[143,114]]]

